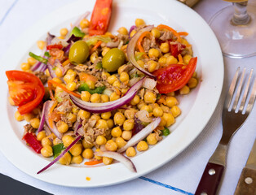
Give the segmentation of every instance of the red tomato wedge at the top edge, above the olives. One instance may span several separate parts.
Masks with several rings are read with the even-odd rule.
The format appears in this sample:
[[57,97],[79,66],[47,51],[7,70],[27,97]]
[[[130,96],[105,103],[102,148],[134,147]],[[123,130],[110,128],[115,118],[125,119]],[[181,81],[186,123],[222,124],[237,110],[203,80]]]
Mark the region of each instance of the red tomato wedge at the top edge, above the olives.
[[89,34],[102,35],[108,30],[112,12],[112,0],[96,0],[90,18]]

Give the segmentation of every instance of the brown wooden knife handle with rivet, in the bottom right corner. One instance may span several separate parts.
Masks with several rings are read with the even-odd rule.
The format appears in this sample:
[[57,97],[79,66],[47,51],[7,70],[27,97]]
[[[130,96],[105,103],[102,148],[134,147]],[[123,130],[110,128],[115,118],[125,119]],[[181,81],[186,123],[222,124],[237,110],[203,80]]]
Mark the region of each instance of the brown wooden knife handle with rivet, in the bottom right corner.
[[234,195],[256,195],[256,170],[245,167]]

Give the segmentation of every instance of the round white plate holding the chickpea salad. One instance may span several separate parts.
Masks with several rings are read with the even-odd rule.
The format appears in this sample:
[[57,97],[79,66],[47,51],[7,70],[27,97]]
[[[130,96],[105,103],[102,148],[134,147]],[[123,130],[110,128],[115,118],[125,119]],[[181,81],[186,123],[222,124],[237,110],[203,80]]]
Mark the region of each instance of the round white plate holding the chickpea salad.
[[[178,31],[189,32],[188,41],[192,44],[194,55],[198,57],[196,72],[200,77],[200,83],[188,96],[179,97],[183,113],[170,128],[173,131],[170,136],[150,150],[132,158],[137,173],[130,172],[121,163],[100,167],[55,164],[37,175],[36,173],[50,160],[35,154],[24,141],[21,141],[24,124],[15,121],[16,108],[9,106],[7,102],[7,78],[4,72],[15,69],[20,63],[25,62],[29,51],[40,54],[36,41],[45,38],[49,30],[53,34],[58,34],[60,28],[69,27],[79,15],[85,11],[92,11],[94,4],[94,0],[80,0],[47,15],[11,46],[0,63],[3,67],[0,85],[4,93],[0,98],[3,102],[0,107],[2,153],[29,176],[52,184],[73,187],[118,184],[161,167],[190,145],[203,130],[217,106],[223,86],[223,56],[218,41],[210,27],[195,11],[174,0],[158,0],[157,3],[155,0],[116,1],[113,3],[113,17],[109,28],[112,32],[117,32],[121,26],[130,28],[136,18],[143,18],[147,24],[167,24]],[[90,177],[90,181],[86,180],[86,177]]]

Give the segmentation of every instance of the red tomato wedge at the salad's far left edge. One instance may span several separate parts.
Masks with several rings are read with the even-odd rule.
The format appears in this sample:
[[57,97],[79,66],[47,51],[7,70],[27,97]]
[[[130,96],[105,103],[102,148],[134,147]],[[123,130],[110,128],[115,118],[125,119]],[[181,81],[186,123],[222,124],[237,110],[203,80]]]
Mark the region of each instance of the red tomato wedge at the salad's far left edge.
[[9,82],[9,93],[15,101],[15,105],[19,106],[20,115],[33,111],[42,102],[45,93],[41,80],[29,72],[7,71],[6,75]]

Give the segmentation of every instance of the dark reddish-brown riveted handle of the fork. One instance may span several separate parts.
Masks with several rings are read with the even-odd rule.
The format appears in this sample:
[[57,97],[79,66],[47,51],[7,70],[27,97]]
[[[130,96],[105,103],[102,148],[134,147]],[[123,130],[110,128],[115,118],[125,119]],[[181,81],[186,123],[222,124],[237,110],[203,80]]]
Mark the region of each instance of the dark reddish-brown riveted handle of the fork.
[[223,176],[224,166],[207,163],[195,195],[214,195],[217,193],[218,184]]

